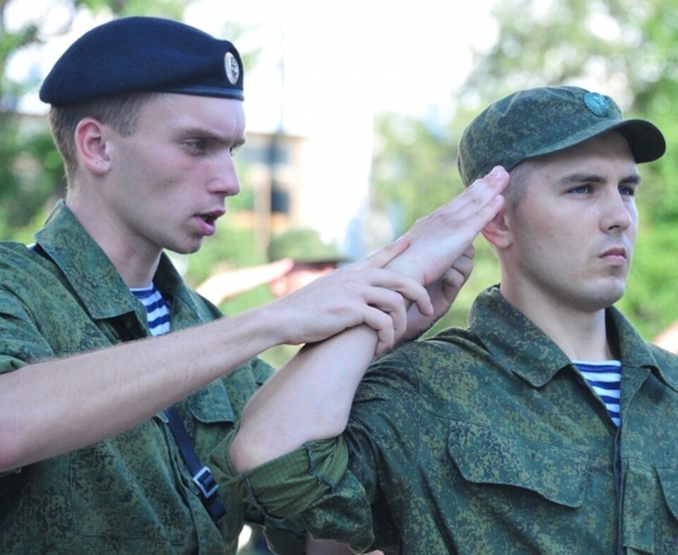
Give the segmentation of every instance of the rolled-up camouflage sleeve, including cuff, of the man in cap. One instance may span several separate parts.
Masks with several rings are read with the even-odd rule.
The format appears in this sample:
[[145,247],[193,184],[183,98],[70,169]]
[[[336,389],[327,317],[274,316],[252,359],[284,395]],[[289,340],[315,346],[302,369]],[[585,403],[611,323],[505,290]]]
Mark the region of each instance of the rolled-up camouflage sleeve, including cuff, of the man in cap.
[[391,359],[366,374],[342,436],[307,443],[238,475],[228,457],[236,429],[210,462],[242,499],[273,518],[301,515],[315,538],[333,539],[357,551],[396,544],[383,478],[393,474],[388,453],[410,445],[405,437],[416,428],[412,400],[403,397],[403,392],[412,393],[410,380],[403,383],[396,376],[398,367],[403,368],[403,361]]

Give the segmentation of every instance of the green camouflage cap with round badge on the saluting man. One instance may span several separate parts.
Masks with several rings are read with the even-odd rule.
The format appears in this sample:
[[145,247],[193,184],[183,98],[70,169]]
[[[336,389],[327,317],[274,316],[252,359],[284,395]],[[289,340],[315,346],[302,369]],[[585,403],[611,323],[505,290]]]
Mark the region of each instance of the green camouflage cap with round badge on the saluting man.
[[636,162],[664,154],[661,131],[644,119],[623,119],[612,98],[578,87],[519,90],[484,109],[464,130],[457,166],[465,186],[494,166],[519,162],[619,131]]

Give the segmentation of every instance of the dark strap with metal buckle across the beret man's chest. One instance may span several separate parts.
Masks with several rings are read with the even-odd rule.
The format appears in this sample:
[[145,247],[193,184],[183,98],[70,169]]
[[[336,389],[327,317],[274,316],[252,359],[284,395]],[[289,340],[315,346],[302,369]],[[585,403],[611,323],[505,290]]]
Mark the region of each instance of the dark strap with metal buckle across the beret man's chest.
[[[44,251],[40,244],[32,244],[30,249],[42,256],[42,258],[52,260],[52,257]],[[111,326],[122,341],[126,342],[136,339],[127,326],[119,319],[112,319]],[[215,481],[210,469],[205,465],[201,465],[200,460],[198,460],[198,454],[189,437],[189,432],[186,431],[184,421],[182,420],[182,417],[179,416],[177,409],[169,407],[164,413],[167,417],[169,429],[172,431],[172,436],[174,436],[174,441],[177,442],[177,446],[179,446],[179,450],[182,452],[182,458],[184,458],[186,467],[191,473],[191,478],[200,491],[198,496],[200,496],[203,506],[205,506],[208,513],[210,513],[212,520],[217,523],[226,515],[226,508],[217,495],[219,484]]]

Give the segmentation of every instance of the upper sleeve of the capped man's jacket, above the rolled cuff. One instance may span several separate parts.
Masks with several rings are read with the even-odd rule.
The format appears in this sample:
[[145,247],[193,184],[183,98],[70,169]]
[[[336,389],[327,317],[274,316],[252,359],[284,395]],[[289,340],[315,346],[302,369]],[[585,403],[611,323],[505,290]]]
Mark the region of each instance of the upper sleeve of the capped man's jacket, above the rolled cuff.
[[410,504],[421,430],[419,383],[409,348],[374,362],[360,383],[343,433],[347,471],[302,515],[316,538],[358,551],[398,549],[400,515],[393,511]]

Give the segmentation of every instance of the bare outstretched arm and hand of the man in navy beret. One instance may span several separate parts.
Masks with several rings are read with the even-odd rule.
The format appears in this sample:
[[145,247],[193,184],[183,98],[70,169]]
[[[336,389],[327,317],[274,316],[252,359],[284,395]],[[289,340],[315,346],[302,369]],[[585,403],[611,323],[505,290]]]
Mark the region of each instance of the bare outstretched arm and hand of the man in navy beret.
[[129,429],[273,345],[318,341],[360,323],[390,344],[394,326],[405,326],[391,288],[429,309],[423,288],[396,272],[326,277],[234,318],[0,374],[0,472]]

